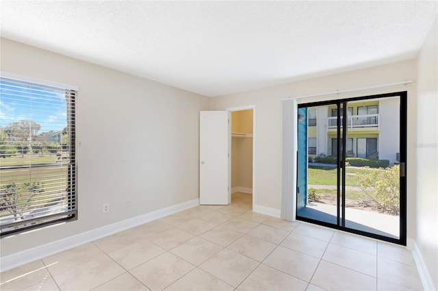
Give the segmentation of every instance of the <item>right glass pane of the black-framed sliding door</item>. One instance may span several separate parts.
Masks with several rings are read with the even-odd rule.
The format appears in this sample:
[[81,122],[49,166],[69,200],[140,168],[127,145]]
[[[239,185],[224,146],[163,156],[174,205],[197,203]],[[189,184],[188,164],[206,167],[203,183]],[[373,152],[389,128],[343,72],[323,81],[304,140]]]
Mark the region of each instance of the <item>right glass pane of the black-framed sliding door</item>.
[[347,131],[348,152],[356,148],[353,156],[363,159],[346,159],[345,227],[400,238],[400,97],[370,100],[376,101],[368,113],[380,107],[378,124]]

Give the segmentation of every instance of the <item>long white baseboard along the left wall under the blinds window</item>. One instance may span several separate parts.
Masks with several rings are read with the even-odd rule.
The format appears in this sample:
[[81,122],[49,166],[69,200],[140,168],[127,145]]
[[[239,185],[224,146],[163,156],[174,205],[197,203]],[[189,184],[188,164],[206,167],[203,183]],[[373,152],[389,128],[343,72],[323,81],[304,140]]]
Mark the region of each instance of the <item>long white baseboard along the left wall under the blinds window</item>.
[[162,218],[164,216],[168,216],[197,205],[199,205],[199,199],[193,199],[177,205],[172,205],[160,210],[142,214],[140,216],[129,218],[127,220],[119,221],[117,223],[112,223],[111,225],[105,225],[104,227],[79,233],[75,236],[63,238],[62,240],[49,242],[48,244],[43,244],[42,246],[36,246],[32,249],[27,249],[19,253],[1,257],[0,272],[10,270],[11,268],[15,268],[23,264],[34,262],[35,260],[40,260],[43,257],[59,253],[60,251],[66,251],[67,249],[71,249],[81,244],[86,244],[87,242],[92,242],[93,240],[99,240],[99,238],[110,236],[119,231],[142,225],[143,223],[149,223],[149,221]]

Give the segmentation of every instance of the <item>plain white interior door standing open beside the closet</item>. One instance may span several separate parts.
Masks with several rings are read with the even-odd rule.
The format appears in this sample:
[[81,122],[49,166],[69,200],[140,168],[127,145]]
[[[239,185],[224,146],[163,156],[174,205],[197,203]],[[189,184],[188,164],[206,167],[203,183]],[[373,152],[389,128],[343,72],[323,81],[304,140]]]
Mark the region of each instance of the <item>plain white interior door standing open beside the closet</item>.
[[201,111],[199,117],[199,203],[228,205],[229,112]]

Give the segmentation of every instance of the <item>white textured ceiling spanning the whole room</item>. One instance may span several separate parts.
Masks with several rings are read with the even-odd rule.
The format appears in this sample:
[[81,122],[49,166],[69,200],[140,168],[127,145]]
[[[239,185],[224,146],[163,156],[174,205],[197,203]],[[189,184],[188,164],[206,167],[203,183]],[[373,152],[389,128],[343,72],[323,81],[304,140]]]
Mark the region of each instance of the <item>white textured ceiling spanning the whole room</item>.
[[415,58],[437,1],[5,1],[1,36],[205,96]]

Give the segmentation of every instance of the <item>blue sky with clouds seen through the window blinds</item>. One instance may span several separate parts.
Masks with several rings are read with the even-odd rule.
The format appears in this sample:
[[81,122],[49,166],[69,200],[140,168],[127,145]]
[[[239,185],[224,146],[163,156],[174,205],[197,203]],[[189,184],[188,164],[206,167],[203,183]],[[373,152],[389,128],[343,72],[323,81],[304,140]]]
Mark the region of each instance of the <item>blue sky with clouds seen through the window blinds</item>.
[[67,126],[66,105],[63,91],[0,79],[0,127],[2,128],[12,122],[30,120],[41,125],[38,134],[60,131]]

